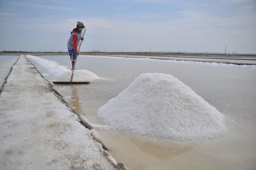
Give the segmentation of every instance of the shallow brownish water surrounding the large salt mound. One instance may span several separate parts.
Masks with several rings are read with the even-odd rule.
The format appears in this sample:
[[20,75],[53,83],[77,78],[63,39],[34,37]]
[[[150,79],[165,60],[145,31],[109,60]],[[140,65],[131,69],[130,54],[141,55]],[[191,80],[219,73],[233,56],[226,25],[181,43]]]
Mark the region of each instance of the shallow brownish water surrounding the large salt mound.
[[[41,58],[71,66],[68,56]],[[35,65],[52,81],[54,75],[47,68]],[[227,134],[198,142],[97,130],[111,155],[129,169],[256,169],[256,66],[79,56],[76,67],[104,80],[88,86],[54,88],[92,123],[104,124],[97,117],[97,109],[147,72],[172,74],[227,116]]]

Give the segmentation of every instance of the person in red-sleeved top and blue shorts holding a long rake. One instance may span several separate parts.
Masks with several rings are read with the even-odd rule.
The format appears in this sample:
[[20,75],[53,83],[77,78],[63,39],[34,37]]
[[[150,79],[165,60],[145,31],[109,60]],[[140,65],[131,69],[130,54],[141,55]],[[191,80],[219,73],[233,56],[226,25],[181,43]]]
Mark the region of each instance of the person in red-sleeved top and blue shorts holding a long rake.
[[76,61],[77,56],[79,56],[77,46],[79,45],[80,40],[82,40],[82,41],[84,40],[84,38],[82,37],[82,34],[81,34],[83,29],[84,29],[83,22],[77,22],[76,28],[73,29],[73,31],[70,33],[71,35],[68,39],[68,43],[67,43],[68,54],[72,61],[72,69],[71,70],[75,69],[74,68],[75,61]]

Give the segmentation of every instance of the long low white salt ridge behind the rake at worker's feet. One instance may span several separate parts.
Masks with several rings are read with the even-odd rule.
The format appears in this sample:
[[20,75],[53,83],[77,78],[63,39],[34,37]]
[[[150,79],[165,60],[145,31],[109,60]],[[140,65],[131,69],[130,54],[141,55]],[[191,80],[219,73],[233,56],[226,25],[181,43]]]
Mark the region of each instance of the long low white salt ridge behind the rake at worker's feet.
[[[58,81],[67,81],[70,79],[72,72],[67,66],[60,65],[56,61],[51,61],[49,59],[42,59],[36,56],[26,56],[33,61],[36,61],[39,65],[46,68],[51,75],[54,76],[54,79]],[[95,81],[101,79],[95,73],[90,72],[89,70],[75,70],[73,81]]]

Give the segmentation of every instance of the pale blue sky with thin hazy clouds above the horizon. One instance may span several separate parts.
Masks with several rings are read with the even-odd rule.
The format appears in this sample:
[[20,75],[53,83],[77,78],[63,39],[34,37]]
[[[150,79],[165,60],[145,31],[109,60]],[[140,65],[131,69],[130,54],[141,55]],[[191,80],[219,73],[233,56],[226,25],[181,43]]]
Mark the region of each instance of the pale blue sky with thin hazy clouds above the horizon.
[[0,0],[0,50],[256,53],[256,0]]

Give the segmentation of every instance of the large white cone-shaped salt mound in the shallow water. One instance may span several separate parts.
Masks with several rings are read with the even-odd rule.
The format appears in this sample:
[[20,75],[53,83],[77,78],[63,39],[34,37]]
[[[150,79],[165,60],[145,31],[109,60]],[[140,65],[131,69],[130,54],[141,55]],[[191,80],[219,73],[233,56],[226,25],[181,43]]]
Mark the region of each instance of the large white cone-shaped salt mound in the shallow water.
[[225,132],[225,116],[172,75],[144,73],[100,107],[116,130],[174,140],[212,138]]

